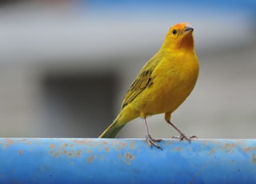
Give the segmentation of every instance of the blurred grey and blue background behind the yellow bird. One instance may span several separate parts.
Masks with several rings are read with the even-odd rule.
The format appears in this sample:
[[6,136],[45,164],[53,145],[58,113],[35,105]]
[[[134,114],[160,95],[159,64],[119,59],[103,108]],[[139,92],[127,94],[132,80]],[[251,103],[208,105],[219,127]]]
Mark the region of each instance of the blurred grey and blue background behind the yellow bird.
[[[172,122],[198,138],[256,138],[256,2],[0,2],[0,136],[95,138],[170,26],[190,22],[197,85]],[[154,138],[178,133],[163,114]],[[144,138],[142,119],[119,138]]]

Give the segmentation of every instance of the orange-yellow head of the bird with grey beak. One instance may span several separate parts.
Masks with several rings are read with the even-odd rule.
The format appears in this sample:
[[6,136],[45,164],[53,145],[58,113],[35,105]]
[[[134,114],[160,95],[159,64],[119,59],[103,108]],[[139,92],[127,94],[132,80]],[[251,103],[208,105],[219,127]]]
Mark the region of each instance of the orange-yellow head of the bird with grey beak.
[[162,50],[194,50],[193,30],[194,28],[188,22],[178,23],[170,27]]

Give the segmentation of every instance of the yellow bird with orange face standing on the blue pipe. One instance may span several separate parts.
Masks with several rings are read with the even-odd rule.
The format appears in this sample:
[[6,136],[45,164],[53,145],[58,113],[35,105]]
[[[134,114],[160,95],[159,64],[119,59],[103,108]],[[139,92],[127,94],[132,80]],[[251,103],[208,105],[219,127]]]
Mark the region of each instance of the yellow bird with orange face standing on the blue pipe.
[[114,122],[99,138],[114,138],[134,118],[143,118],[146,127],[146,141],[158,148],[150,136],[146,118],[165,113],[166,122],[174,127],[179,137],[190,138],[172,122],[170,115],[185,101],[198,78],[198,58],[194,51],[194,28],[188,22],[178,23],[170,28],[158,53],[154,54],[138,73],[122,101],[122,108]]

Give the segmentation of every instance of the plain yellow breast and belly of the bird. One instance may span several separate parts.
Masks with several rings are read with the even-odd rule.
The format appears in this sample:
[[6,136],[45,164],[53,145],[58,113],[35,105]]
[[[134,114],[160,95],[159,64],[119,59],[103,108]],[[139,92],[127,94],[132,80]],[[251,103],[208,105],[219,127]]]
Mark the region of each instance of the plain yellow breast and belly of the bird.
[[162,60],[152,73],[152,84],[130,104],[142,117],[176,110],[198,78],[198,58],[194,51],[159,54],[163,54]]

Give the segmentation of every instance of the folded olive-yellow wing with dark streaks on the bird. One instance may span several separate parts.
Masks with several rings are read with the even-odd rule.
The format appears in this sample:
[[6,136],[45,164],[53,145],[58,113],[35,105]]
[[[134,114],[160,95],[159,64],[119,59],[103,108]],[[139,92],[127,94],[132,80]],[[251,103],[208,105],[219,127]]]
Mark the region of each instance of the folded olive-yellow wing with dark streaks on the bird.
[[158,54],[154,55],[153,58],[150,59],[149,62],[143,66],[142,70],[138,73],[134,82],[131,84],[130,89],[127,91],[125,98],[122,101],[122,108],[127,104],[132,102],[134,98],[138,96],[146,87],[150,86],[153,83],[153,78],[151,74],[153,73],[158,63],[161,61],[160,56]]

